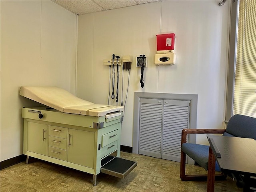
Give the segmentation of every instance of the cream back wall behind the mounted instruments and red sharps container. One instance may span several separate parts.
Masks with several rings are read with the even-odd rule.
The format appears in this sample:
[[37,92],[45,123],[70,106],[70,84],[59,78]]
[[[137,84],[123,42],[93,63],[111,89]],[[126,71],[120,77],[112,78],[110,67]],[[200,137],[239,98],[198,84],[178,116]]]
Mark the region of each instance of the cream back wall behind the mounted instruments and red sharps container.
[[[132,63],[122,145],[132,146],[134,92],[198,94],[197,128],[222,128],[229,7],[230,2],[220,7],[218,1],[160,1],[78,16],[77,96],[108,104],[109,67],[103,59],[116,54],[135,61],[145,54],[143,89],[140,68]],[[176,34],[174,66],[154,65],[160,32]],[[110,104],[121,104],[120,92],[121,85],[119,102]],[[208,143],[205,135],[196,142]]]

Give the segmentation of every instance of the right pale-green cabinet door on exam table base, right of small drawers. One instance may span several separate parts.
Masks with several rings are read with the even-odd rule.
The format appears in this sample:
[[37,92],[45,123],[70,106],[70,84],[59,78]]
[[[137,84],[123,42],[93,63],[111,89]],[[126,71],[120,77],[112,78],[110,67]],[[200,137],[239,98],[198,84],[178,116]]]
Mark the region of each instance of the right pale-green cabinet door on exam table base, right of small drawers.
[[93,168],[94,132],[68,129],[68,162]]

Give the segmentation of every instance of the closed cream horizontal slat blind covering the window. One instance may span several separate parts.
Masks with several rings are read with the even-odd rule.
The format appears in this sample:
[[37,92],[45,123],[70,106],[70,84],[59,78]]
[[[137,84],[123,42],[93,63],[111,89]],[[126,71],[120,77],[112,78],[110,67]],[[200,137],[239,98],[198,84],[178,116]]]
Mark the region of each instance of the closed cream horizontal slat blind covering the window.
[[233,115],[256,117],[256,1],[240,0]]

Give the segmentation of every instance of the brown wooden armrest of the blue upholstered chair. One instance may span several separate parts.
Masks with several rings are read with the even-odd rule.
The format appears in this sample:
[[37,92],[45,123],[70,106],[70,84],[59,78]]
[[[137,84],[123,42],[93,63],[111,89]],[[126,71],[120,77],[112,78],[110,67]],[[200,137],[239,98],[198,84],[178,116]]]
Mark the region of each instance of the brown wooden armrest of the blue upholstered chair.
[[186,143],[188,134],[223,134],[226,129],[183,129],[181,132],[181,144]]

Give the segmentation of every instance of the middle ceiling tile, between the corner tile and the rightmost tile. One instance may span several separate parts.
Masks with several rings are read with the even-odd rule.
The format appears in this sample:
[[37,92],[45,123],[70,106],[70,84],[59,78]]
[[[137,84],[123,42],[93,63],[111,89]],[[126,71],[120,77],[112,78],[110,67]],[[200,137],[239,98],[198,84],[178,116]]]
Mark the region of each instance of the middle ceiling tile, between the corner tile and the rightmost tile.
[[102,6],[105,10],[137,5],[136,1],[133,1],[133,0],[122,0],[122,1],[120,1],[120,0],[111,0],[111,1],[96,0],[94,2],[96,4]]

